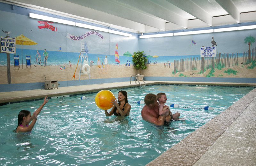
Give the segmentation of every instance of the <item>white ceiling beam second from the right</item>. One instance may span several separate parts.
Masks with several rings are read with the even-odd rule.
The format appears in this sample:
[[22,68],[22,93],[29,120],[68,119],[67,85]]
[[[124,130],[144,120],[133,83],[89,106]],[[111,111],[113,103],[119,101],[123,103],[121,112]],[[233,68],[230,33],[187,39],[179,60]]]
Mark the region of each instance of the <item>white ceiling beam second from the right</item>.
[[212,16],[191,0],[166,0],[192,16],[212,26]]

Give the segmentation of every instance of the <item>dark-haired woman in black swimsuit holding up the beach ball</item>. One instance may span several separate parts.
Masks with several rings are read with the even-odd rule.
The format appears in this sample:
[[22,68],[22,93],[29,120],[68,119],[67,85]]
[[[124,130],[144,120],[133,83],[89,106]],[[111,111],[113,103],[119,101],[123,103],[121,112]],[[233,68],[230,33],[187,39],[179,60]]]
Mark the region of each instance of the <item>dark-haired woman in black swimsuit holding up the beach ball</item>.
[[131,105],[128,103],[127,99],[127,92],[124,90],[120,90],[118,92],[118,103],[116,99],[111,100],[112,104],[114,105],[112,107],[112,110],[108,113],[107,110],[105,110],[106,116],[116,115],[116,116],[122,116],[127,117],[130,114]]

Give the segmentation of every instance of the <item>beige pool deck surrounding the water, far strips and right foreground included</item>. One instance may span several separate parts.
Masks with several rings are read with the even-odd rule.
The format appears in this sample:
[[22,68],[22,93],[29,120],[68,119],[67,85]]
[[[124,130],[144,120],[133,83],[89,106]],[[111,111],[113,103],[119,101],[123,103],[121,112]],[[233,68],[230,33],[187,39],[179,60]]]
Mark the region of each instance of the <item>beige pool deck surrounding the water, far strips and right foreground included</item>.
[[[185,84],[185,85],[223,85],[251,86],[255,83],[209,83],[209,82],[172,82],[145,81],[149,84]],[[143,85],[143,84],[142,84]],[[119,89],[135,87],[139,84],[116,82],[72,87],[59,87],[52,90],[28,90],[0,93],[0,105],[17,101],[63,96],[68,94],[83,94],[102,89]],[[148,166],[170,165],[256,165],[256,88],[246,94],[228,109],[199,127],[163,154],[158,156]]]

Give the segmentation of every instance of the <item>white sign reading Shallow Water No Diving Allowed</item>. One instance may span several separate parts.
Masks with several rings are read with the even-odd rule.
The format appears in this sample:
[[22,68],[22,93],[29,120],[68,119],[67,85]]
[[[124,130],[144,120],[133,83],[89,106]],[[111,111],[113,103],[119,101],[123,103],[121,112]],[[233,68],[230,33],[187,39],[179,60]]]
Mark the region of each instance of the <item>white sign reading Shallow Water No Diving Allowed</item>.
[[16,54],[15,38],[0,37],[0,42],[1,53]]

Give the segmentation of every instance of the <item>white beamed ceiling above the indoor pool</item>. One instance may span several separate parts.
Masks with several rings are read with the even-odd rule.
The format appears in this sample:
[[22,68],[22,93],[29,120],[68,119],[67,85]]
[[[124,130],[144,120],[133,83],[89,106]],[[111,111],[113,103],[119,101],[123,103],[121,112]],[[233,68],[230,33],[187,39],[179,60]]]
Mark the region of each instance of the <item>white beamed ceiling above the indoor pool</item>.
[[256,21],[256,0],[7,0],[133,33]]

